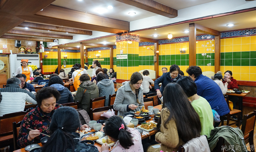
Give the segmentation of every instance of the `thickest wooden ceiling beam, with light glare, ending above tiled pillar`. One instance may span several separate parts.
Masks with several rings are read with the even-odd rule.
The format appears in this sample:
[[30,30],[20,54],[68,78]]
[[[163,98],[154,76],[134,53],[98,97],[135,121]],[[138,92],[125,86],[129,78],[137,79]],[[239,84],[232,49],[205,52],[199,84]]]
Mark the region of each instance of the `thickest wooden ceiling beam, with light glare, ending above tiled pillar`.
[[129,31],[129,22],[102,17],[78,10],[49,5],[35,15],[18,16],[29,22],[53,24],[71,28],[121,33]]

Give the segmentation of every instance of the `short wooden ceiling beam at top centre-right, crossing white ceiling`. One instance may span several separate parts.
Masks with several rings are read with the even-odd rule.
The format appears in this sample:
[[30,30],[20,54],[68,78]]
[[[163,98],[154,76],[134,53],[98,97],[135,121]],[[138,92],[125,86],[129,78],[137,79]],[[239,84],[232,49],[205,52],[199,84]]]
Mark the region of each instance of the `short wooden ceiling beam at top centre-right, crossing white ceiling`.
[[134,7],[140,8],[142,10],[147,10],[165,17],[177,17],[178,10],[175,10],[169,6],[158,3],[153,0],[116,0]]

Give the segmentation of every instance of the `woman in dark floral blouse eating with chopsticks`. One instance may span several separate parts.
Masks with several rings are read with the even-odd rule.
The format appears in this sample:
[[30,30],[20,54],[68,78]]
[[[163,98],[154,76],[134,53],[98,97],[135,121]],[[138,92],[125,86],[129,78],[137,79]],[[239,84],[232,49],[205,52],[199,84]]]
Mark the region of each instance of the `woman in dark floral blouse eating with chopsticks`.
[[[52,115],[56,109],[62,107],[62,105],[56,104],[59,99],[60,93],[54,87],[44,87],[36,93],[37,106],[26,114],[20,125],[17,140],[19,147],[24,148],[40,143],[41,138],[49,135],[48,128],[52,121]],[[80,126],[81,130],[85,128],[89,128],[89,126],[86,124]]]

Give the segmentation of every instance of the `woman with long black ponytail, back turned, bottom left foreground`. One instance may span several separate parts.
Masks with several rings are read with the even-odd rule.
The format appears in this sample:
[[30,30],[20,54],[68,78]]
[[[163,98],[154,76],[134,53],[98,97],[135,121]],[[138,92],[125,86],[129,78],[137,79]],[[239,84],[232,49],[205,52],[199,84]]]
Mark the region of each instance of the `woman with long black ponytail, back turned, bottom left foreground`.
[[98,152],[92,144],[79,142],[80,120],[76,109],[72,107],[58,108],[52,115],[49,127],[51,137],[44,147],[31,152]]

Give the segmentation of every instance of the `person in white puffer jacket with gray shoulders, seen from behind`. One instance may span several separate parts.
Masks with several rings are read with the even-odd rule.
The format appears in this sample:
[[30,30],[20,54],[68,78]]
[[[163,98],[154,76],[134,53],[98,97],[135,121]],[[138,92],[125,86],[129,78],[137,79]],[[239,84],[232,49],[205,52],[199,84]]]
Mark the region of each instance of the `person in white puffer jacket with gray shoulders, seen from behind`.
[[19,78],[7,80],[5,88],[0,89],[2,101],[0,102],[0,116],[15,112],[24,111],[26,101],[36,105],[36,97],[31,92],[21,89]]

